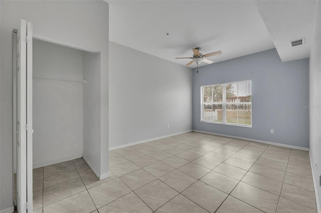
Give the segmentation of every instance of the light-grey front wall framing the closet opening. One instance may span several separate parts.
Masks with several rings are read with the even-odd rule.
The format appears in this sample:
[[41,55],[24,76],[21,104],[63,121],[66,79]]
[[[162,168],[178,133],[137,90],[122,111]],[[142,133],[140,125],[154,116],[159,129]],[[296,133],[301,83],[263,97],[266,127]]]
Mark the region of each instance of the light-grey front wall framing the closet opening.
[[12,30],[22,18],[35,34],[100,50],[101,173],[108,172],[108,4],[98,0],[0,1],[0,210],[13,206],[12,163]]

